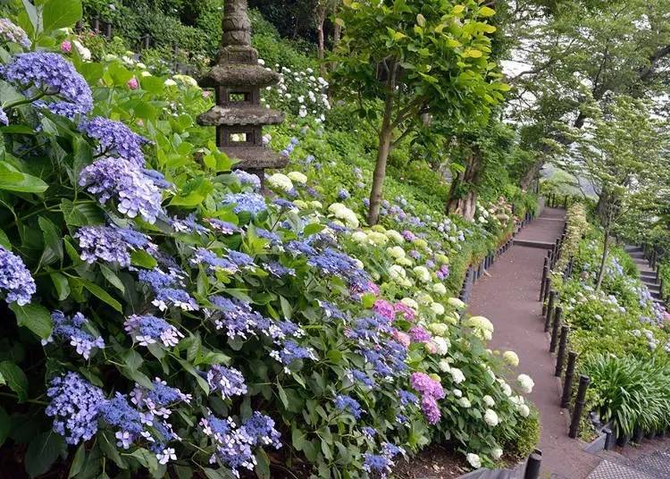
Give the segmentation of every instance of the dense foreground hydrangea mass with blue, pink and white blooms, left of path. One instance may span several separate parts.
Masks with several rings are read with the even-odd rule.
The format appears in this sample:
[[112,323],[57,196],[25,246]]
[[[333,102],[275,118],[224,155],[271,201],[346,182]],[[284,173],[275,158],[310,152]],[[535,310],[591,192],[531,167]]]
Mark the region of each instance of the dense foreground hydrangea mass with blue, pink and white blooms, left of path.
[[211,99],[191,82],[15,38],[0,439],[28,443],[30,475],[384,475],[431,441],[480,464],[513,452],[528,382],[503,379],[490,323],[444,286],[481,229],[404,197],[361,229],[360,197],[319,193],[297,139],[264,197],[195,126]]

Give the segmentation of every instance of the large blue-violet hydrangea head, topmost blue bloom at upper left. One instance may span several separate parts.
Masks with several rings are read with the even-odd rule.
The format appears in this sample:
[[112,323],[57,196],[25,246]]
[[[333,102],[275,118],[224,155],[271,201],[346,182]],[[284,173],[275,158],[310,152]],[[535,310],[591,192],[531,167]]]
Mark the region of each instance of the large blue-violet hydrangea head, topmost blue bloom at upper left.
[[45,106],[52,113],[72,119],[93,108],[88,83],[61,55],[47,52],[14,55],[2,75],[4,80],[22,88],[28,97],[38,94],[51,97],[49,102],[39,100],[35,105]]

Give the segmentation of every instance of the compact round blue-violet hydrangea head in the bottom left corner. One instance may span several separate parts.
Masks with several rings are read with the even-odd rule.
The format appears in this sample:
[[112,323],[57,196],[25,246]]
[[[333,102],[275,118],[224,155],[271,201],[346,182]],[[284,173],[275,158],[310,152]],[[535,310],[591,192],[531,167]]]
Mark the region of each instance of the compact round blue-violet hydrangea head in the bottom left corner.
[[99,408],[105,402],[100,388],[80,374],[68,373],[51,380],[46,396],[50,399],[46,416],[54,417],[54,432],[68,444],[88,441],[97,433]]

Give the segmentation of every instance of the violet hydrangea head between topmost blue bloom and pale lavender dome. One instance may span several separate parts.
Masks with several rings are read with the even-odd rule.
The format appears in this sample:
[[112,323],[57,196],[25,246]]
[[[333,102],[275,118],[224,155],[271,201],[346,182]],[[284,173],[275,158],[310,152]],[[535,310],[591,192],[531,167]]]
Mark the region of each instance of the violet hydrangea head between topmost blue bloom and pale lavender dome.
[[145,159],[142,147],[147,145],[149,140],[139,136],[125,124],[96,116],[96,118],[80,122],[79,128],[88,137],[98,140],[100,143],[98,151],[103,155],[119,155],[138,168],[144,167]]

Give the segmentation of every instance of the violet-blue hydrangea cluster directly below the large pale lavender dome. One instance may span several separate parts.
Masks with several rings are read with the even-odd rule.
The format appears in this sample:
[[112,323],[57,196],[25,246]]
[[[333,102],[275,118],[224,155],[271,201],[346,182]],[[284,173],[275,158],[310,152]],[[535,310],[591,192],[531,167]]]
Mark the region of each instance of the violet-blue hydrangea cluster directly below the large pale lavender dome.
[[84,226],[74,234],[80,241],[81,259],[95,263],[98,259],[130,266],[130,251],[149,246],[148,236],[114,226]]

